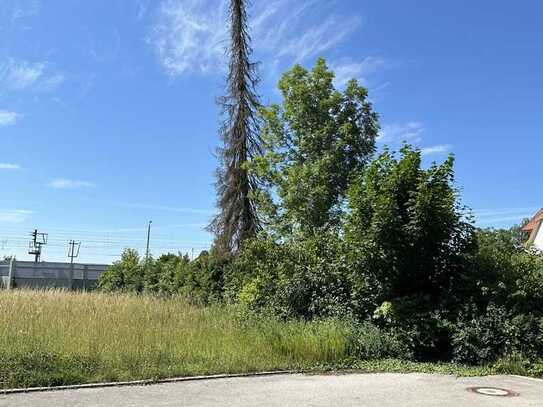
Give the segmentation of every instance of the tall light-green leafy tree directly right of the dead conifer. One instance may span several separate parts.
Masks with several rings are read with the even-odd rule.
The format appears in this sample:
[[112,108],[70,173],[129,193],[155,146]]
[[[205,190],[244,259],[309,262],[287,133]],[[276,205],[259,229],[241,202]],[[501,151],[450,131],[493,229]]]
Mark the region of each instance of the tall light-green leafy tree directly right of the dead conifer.
[[279,81],[282,105],[261,110],[265,153],[252,164],[265,191],[264,219],[282,232],[338,225],[342,199],[374,151],[378,117],[355,80],[335,89],[323,59],[308,71],[297,65]]

